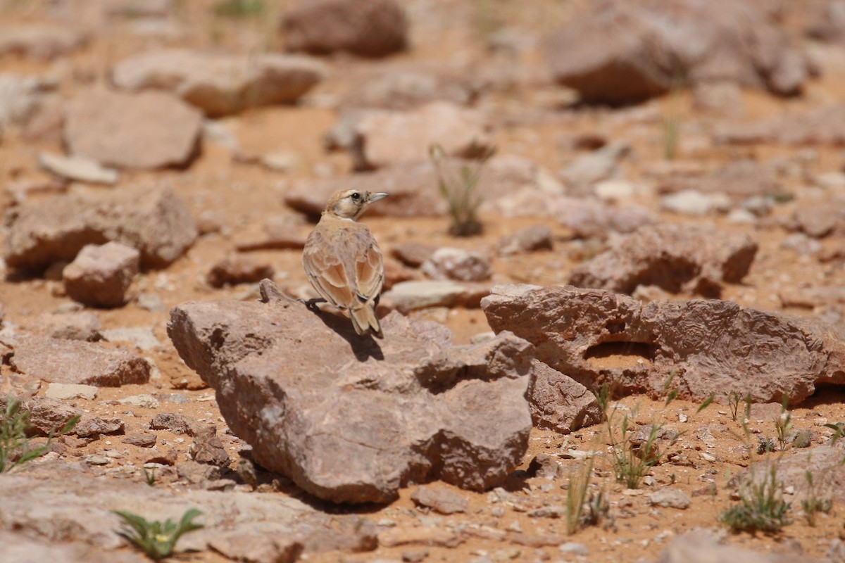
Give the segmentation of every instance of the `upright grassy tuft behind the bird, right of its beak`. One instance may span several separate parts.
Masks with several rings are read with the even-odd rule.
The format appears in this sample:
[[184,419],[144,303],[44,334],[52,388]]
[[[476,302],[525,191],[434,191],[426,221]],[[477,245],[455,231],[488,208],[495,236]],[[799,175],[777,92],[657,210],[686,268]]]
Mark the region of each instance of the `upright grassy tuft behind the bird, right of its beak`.
[[487,154],[479,154],[477,165],[461,165],[457,175],[448,170],[444,164],[446,153],[439,144],[433,144],[428,149],[428,157],[434,165],[437,174],[440,195],[449,205],[449,215],[452,224],[449,228],[450,235],[472,236],[481,233],[482,224],[478,220],[478,208],[484,202],[484,198],[477,192],[478,180],[484,164],[493,156],[494,151]]

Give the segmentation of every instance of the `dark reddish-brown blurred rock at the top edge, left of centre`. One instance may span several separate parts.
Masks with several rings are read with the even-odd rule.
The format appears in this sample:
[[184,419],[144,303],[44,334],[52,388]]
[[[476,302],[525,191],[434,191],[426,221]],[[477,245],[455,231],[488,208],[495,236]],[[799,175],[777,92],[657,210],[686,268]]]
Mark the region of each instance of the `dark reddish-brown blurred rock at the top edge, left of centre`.
[[394,0],[311,0],[281,19],[288,51],[385,57],[405,49],[408,23]]

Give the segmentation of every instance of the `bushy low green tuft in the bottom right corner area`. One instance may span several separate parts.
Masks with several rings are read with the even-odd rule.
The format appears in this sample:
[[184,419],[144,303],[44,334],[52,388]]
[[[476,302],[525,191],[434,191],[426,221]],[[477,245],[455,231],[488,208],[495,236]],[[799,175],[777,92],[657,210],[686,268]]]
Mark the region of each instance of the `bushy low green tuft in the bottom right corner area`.
[[766,477],[755,483],[752,477],[740,487],[739,504],[719,515],[719,522],[735,532],[777,533],[792,523],[789,503],[783,500],[783,484],[777,480],[777,464],[770,463]]

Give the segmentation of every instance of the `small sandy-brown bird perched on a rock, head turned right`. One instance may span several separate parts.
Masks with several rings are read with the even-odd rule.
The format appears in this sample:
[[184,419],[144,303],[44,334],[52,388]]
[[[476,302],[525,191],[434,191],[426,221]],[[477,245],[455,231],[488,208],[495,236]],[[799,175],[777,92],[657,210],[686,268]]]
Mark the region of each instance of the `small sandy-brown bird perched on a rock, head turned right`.
[[387,196],[359,190],[336,192],[303,250],[303,268],[314,290],[352,319],[356,333],[373,333],[379,338],[383,335],[375,306],[384,265],[373,234],[355,219],[370,203]]

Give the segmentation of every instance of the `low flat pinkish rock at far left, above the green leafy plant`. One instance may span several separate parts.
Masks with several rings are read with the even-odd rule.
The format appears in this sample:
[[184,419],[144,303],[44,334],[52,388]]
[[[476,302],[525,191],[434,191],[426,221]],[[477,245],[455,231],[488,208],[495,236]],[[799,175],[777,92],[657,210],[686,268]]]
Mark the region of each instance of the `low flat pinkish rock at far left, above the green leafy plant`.
[[150,379],[150,364],[123,349],[40,337],[17,338],[7,344],[13,349],[9,365],[30,379],[97,387],[120,387]]

